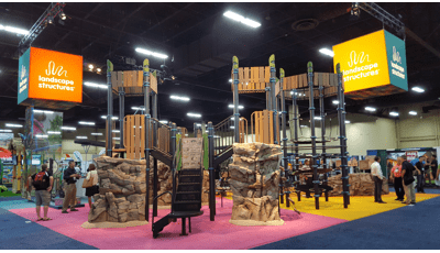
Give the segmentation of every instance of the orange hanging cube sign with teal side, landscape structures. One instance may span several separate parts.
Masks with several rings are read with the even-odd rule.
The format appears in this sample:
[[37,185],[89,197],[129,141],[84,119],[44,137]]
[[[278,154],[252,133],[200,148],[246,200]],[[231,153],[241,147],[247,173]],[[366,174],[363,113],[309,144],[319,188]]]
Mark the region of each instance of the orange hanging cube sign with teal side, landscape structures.
[[18,103],[68,109],[82,102],[82,56],[30,47],[19,59]]

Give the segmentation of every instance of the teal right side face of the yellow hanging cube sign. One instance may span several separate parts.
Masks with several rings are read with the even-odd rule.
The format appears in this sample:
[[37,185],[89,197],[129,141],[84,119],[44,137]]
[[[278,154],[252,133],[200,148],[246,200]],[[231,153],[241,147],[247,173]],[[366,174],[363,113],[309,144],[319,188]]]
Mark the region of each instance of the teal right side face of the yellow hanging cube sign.
[[386,56],[388,58],[389,82],[408,91],[405,42],[385,31]]

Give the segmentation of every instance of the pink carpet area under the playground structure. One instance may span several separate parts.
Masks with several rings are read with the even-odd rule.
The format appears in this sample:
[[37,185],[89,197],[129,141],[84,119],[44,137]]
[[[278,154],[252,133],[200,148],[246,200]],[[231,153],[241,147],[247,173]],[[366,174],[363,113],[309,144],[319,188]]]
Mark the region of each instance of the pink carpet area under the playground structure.
[[[202,210],[204,216],[191,219],[193,233],[188,237],[179,237],[180,219],[165,227],[157,239],[153,239],[151,224],[125,229],[82,229],[80,226],[87,221],[88,205],[69,215],[50,209],[50,217],[53,220],[38,221],[38,223],[101,250],[246,250],[346,222],[346,220],[316,215],[297,215],[283,209],[284,226],[239,227],[229,223],[232,200],[223,199],[223,208],[221,208],[220,199],[218,199],[216,221],[209,220],[207,206],[202,207]],[[34,208],[10,211],[26,219],[36,219]],[[168,212],[169,210],[158,210],[158,217],[155,220]]]

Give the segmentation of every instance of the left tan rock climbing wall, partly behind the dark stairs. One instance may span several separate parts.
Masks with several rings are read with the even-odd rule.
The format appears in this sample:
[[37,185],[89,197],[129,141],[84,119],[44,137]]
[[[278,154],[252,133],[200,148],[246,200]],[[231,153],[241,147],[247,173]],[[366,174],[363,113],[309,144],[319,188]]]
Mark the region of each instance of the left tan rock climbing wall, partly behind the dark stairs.
[[[89,222],[125,222],[145,220],[145,160],[125,160],[100,156],[97,163],[99,195],[89,212]],[[150,205],[153,204],[153,157],[150,157]],[[209,176],[204,172],[204,193],[209,189]],[[172,169],[157,161],[157,195],[173,191]],[[178,178],[176,177],[176,182]],[[177,182],[178,183],[178,182]],[[208,202],[208,194],[202,195]],[[157,199],[157,206],[170,207],[172,196]]]

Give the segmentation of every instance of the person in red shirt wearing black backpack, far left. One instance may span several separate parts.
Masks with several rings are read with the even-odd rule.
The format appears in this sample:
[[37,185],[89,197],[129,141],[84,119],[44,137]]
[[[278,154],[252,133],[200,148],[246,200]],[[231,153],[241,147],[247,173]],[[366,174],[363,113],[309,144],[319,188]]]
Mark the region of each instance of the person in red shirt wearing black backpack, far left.
[[[51,204],[51,190],[54,186],[54,177],[52,173],[47,170],[47,164],[42,165],[40,173],[29,177],[29,182],[35,187],[35,206],[37,221],[52,220],[47,217],[48,205]],[[31,185],[31,184],[30,184]],[[43,218],[41,217],[41,206],[43,205]]]

